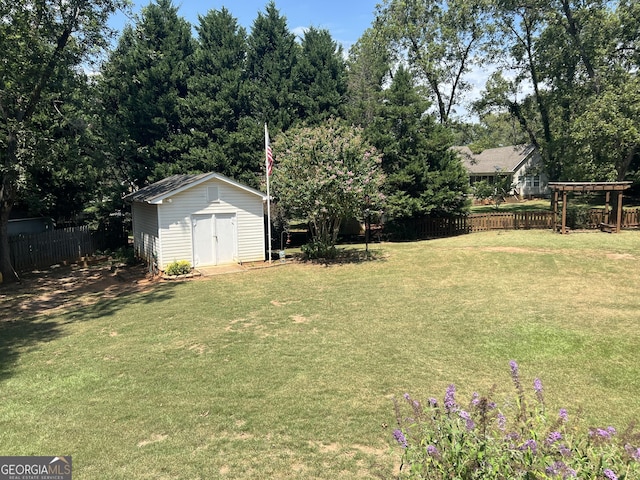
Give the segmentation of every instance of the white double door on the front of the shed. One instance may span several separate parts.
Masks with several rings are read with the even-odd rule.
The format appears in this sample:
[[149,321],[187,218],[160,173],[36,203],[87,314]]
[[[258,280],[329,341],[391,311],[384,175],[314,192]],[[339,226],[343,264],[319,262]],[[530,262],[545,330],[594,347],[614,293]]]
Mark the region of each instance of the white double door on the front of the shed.
[[193,265],[222,265],[236,258],[236,215],[193,215]]

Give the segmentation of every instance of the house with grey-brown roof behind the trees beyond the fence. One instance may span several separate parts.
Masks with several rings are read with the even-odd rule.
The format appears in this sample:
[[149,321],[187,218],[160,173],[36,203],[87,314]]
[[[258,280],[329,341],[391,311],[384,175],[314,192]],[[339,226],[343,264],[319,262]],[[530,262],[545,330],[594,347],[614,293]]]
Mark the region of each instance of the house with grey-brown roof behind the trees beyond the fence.
[[549,194],[549,179],[543,171],[542,158],[533,145],[512,145],[488,148],[473,153],[469,147],[453,147],[469,172],[469,181],[482,180],[493,184],[497,176],[511,178],[511,193],[520,198],[542,197]]

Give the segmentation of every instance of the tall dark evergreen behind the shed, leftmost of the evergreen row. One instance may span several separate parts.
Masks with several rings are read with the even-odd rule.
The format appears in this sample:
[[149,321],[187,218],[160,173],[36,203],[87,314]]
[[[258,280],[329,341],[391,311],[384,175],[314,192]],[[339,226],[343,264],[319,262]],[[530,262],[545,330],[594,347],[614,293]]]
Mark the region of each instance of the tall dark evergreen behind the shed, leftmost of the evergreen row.
[[111,150],[134,188],[181,169],[191,139],[180,105],[193,47],[191,26],[177,7],[157,0],[143,8],[135,27],[125,27],[102,69]]

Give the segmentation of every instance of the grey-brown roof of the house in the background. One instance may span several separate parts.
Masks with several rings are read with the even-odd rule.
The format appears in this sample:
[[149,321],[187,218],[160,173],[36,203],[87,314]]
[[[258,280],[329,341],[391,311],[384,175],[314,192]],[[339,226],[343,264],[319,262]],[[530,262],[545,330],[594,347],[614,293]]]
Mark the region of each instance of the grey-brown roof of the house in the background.
[[488,148],[478,154],[473,153],[469,147],[452,148],[460,154],[469,173],[476,175],[496,172],[514,173],[535,152],[533,145]]

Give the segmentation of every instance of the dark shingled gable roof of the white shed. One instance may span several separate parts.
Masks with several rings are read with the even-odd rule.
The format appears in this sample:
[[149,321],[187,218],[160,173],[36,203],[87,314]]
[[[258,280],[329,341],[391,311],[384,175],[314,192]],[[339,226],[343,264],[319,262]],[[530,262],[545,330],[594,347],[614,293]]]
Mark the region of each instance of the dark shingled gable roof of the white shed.
[[128,202],[142,202],[157,205],[161,204],[166,198],[183,192],[184,190],[187,190],[189,188],[193,188],[196,185],[200,185],[201,183],[207,182],[209,180],[219,180],[223,183],[227,183],[234,187],[240,188],[247,193],[259,196],[263,201],[267,199],[266,194],[254,188],[236,182],[235,180],[232,180],[229,177],[225,177],[224,175],[221,175],[219,173],[210,172],[194,175],[172,175],[156,183],[147,185],[146,187],[141,188],[140,190],[137,190],[133,193],[125,195],[124,200]]

